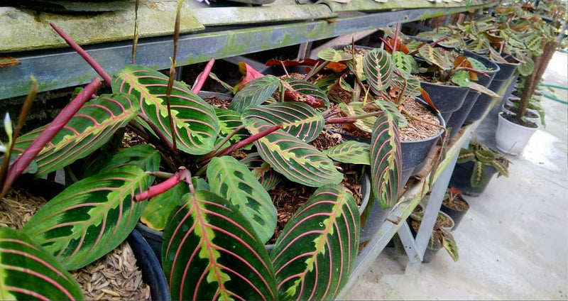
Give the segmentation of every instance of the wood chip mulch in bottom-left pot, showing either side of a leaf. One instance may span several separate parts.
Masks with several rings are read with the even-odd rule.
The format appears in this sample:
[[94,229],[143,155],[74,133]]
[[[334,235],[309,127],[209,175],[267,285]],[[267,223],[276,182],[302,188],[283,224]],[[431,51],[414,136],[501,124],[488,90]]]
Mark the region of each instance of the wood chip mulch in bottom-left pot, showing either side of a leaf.
[[[46,203],[18,187],[0,200],[0,226],[22,229],[35,212]],[[128,243],[79,270],[70,271],[85,300],[151,300],[150,287],[142,282],[142,273]]]

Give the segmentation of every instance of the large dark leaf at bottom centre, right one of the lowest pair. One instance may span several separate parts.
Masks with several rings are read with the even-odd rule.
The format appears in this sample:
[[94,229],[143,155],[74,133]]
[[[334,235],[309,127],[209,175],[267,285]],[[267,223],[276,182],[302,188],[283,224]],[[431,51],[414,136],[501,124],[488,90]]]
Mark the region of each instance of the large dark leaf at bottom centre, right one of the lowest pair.
[[351,193],[325,185],[297,210],[271,258],[282,300],[333,300],[354,268],[359,209]]

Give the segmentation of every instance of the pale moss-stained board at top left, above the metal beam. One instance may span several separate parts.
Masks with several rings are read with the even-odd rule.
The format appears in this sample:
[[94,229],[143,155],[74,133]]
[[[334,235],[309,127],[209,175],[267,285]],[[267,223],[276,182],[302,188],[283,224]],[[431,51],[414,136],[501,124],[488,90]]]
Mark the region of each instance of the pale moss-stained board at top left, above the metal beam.
[[[133,38],[134,4],[127,10],[95,14],[58,14],[0,7],[0,53],[64,47],[60,36],[49,26],[57,24],[80,45]],[[177,2],[141,0],[138,10],[141,38],[173,34]],[[204,29],[189,6],[182,8],[180,31],[191,33]]]

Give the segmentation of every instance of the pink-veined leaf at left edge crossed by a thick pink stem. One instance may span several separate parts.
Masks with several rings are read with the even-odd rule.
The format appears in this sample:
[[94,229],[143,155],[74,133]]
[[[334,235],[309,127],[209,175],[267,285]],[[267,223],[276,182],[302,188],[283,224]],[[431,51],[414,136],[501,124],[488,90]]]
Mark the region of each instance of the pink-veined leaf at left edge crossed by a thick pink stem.
[[[107,143],[116,130],[136,116],[138,103],[129,94],[104,94],[82,106],[51,139],[37,157],[37,176],[63,168]],[[45,130],[35,129],[16,140],[14,150],[22,153]]]

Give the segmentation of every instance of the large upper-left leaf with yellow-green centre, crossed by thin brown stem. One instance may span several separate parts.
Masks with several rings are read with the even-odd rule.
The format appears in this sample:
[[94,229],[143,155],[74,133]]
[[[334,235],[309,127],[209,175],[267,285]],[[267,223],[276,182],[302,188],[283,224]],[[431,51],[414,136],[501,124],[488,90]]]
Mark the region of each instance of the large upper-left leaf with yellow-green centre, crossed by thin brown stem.
[[[166,103],[167,87],[168,77],[138,65],[124,67],[112,83],[113,91],[133,94],[140,102],[142,113],[169,141],[173,141]],[[178,149],[194,155],[212,151],[219,132],[213,106],[184,84],[174,82],[170,108]]]

